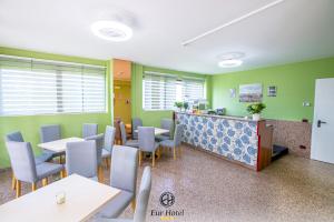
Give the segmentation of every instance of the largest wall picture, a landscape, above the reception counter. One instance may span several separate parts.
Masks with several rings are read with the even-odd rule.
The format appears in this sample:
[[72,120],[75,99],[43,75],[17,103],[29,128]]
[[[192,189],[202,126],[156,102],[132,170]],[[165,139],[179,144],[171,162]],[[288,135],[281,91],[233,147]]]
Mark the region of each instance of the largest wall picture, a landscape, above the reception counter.
[[262,84],[240,84],[239,101],[240,102],[261,102],[263,98]]

